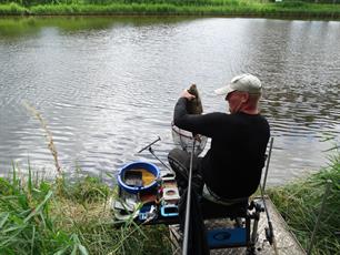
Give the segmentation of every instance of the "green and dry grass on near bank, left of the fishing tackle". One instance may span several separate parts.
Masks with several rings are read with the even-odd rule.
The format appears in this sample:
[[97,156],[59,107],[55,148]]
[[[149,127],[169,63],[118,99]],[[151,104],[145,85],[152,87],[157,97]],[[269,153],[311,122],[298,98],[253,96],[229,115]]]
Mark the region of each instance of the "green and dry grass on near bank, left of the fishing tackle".
[[0,254],[171,254],[166,226],[117,225],[113,190],[94,177],[0,178]]

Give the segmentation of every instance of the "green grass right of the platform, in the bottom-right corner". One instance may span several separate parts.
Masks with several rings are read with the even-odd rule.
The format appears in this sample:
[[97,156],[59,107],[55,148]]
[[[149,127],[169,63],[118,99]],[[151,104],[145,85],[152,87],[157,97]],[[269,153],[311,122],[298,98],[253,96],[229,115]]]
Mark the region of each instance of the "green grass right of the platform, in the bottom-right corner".
[[310,237],[320,213],[320,206],[327,185],[331,180],[329,196],[316,235],[312,254],[339,254],[340,251],[340,153],[330,159],[329,166],[309,176],[282,187],[269,190],[278,210],[300,241],[308,249]]

